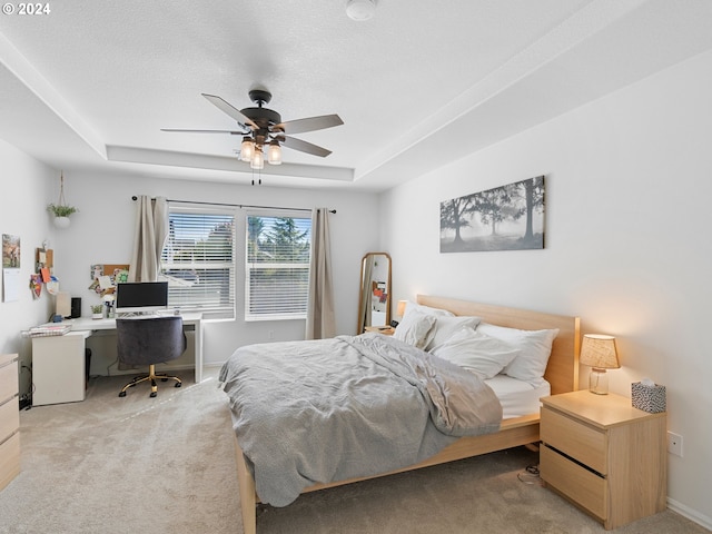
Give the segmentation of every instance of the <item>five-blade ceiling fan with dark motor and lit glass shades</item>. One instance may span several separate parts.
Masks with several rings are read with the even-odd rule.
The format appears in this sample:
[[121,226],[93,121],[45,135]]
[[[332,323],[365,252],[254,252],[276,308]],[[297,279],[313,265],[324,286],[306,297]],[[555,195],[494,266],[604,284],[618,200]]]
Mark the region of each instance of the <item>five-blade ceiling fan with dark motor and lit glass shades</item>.
[[344,121],[338,115],[323,115],[283,122],[281,116],[277,111],[264,107],[264,105],[269,103],[271,100],[271,93],[269,91],[265,89],[253,89],[248,95],[257,107],[237,109],[220,97],[202,93],[202,96],[220,111],[237,120],[241,130],[185,130],[162,128],[161,131],[243,136],[240,159],[243,161],[249,161],[253,169],[264,168],[265,147],[267,147],[267,162],[271,165],[281,164],[281,145],[323,158],[332,154],[332,151],[326,148],[303,141],[286,134],[304,134],[306,131],[323,130],[343,125]]

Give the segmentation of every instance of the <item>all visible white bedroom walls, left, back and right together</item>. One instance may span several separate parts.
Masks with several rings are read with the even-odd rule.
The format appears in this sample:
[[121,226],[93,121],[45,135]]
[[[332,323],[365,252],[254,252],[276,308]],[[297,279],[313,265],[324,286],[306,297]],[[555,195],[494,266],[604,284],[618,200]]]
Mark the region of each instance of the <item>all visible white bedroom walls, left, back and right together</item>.
[[[355,329],[367,250],[392,255],[394,303],[428,293],[580,315],[584,333],[619,338],[623,368],[611,372],[612,390],[630,395],[630,383],[644,376],[668,387],[668,425],[684,437],[684,457],[669,456],[670,503],[712,527],[709,95],[710,52],[398,187],[383,196],[380,211],[366,194],[66,170],[68,200],[80,212],[58,231],[44,210],[57,199],[58,171],[0,141],[0,231],[21,237],[27,281],[34,248],[49,239],[62,288],[81,296],[88,314],[89,266],[128,260],[131,195],[336,208],[339,333]],[[547,179],[545,250],[439,254],[439,200],[541,174]],[[47,295],[33,300],[29,289],[17,303],[0,303],[0,350],[29,362],[29,342],[19,333],[46,320],[52,307]],[[267,340],[269,330],[276,339],[299,338],[303,324],[208,325],[206,359],[219,363],[240,345]]]

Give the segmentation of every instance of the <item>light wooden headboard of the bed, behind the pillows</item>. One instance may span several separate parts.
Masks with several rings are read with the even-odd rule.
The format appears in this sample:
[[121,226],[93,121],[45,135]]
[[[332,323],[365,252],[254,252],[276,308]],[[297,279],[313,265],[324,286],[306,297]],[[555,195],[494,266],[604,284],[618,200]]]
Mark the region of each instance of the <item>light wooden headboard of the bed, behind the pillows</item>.
[[558,328],[558,336],[552,345],[552,355],[548,358],[544,378],[551,384],[552,395],[578,389],[578,352],[581,348],[581,320],[578,317],[429,295],[418,295],[417,303],[433,308],[447,309],[455,315],[481,317],[485,323],[522,330]]

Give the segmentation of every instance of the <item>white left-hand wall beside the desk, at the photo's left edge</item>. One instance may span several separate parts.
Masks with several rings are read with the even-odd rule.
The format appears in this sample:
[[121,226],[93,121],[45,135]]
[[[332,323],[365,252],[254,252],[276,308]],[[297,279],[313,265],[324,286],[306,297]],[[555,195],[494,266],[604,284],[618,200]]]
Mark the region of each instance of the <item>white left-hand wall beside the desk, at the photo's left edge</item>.
[[29,283],[34,273],[36,249],[46,239],[50,248],[53,246],[55,228],[46,207],[57,201],[59,174],[2,140],[0,161],[0,234],[19,236],[21,246],[19,298],[4,301],[3,294],[0,301],[0,353],[20,355],[20,390],[27,393],[31,347],[29,339],[20,337],[20,332],[44,323],[53,307],[53,297],[46,291],[40,298],[33,298]]

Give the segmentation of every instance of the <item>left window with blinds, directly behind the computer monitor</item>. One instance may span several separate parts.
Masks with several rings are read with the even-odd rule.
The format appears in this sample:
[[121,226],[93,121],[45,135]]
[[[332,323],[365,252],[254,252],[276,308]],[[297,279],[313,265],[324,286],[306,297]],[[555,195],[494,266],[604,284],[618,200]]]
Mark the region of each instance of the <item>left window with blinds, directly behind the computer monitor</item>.
[[170,207],[168,222],[161,254],[168,306],[235,317],[235,216]]

